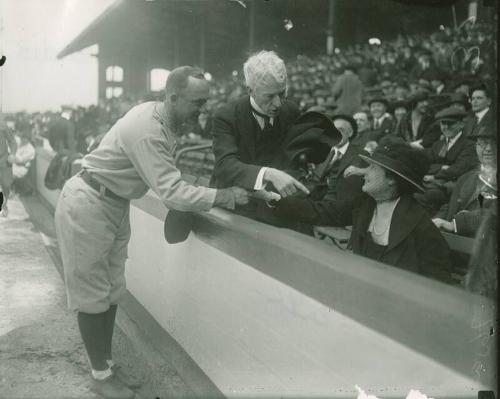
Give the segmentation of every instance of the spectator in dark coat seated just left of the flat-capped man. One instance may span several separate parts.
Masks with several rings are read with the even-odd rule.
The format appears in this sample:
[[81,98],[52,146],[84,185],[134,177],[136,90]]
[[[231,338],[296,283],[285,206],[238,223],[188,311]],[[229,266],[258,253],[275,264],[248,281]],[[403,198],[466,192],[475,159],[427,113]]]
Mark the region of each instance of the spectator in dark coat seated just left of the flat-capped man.
[[410,112],[396,125],[395,134],[416,148],[429,147],[439,138],[430,130],[434,118],[429,109],[429,95],[419,91],[409,99],[409,104]]

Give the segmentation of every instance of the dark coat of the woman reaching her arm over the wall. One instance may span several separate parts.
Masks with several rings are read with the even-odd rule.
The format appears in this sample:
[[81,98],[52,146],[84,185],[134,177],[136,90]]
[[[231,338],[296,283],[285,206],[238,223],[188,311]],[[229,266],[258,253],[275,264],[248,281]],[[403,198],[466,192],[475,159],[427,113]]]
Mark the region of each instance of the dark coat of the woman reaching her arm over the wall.
[[[279,217],[313,225],[352,225],[350,246],[354,253],[365,255],[368,226],[375,210],[375,200],[363,196],[355,201],[311,201],[284,198],[276,205]],[[451,279],[451,254],[446,240],[432,223],[427,212],[411,196],[402,196],[392,216],[389,244],[377,259],[401,269],[445,282]]]

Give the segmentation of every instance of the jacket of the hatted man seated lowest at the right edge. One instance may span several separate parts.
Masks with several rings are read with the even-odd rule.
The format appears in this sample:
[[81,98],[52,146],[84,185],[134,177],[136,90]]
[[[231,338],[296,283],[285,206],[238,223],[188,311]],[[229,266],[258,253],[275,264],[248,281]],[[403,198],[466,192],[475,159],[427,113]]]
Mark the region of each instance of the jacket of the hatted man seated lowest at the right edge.
[[445,220],[455,219],[457,234],[474,237],[483,215],[479,203],[482,187],[478,169],[466,173],[458,179],[453,188],[450,202],[443,205],[435,217]]

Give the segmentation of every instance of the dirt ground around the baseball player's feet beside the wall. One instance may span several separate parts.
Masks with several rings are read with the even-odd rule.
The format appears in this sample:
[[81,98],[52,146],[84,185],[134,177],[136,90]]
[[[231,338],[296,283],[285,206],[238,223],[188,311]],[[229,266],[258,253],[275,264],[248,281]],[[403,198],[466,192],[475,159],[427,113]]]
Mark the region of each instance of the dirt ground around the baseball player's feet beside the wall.
[[[66,308],[53,226],[40,223],[51,216],[36,199],[23,201],[31,217],[18,198],[9,201],[9,217],[0,216],[0,399],[98,398],[89,391],[76,317]],[[118,319],[128,322],[120,312]],[[197,396],[155,348],[131,342],[119,328],[113,352],[144,380],[137,398]]]

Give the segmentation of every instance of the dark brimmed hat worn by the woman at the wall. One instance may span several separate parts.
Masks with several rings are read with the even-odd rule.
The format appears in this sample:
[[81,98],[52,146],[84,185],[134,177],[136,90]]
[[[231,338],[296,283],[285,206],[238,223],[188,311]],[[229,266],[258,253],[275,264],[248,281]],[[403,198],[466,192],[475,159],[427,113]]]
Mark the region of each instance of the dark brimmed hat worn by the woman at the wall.
[[429,161],[422,150],[412,148],[400,137],[386,136],[371,156],[359,155],[368,163],[377,164],[411,183],[420,191]]

